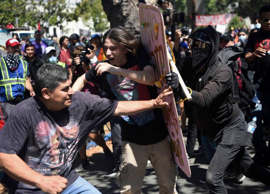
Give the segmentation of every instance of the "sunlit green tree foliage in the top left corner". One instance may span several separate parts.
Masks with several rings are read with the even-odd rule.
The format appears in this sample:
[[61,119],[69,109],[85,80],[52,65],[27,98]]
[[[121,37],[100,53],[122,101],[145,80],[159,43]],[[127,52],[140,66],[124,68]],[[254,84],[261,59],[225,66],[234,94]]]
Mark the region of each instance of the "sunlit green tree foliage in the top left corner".
[[15,24],[17,16],[19,26],[37,28],[40,21],[41,28],[46,31],[49,26],[60,26],[62,22],[72,20],[65,0],[2,0],[0,7],[0,23],[3,25],[8,21]]

